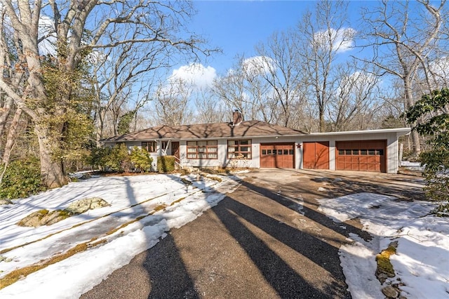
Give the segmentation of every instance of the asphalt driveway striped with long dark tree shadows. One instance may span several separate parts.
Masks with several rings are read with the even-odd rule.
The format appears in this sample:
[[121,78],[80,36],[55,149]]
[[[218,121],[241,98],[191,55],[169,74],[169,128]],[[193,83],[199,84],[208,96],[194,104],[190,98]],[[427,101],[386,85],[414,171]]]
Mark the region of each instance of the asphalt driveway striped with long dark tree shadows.
[[376,192],[421,197],[420,178],[263,169],[199,218],[81,298],[351,298],[338,249],[356,220],[335,223],[316,199]]

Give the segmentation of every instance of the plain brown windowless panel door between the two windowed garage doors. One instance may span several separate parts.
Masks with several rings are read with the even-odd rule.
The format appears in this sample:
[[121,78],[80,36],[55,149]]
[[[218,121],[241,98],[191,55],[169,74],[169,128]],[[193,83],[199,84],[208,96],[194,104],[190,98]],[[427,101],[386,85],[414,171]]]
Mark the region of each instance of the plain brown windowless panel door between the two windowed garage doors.
[[329,142],[302,142],[303,168],[329,169]]

